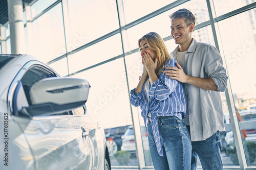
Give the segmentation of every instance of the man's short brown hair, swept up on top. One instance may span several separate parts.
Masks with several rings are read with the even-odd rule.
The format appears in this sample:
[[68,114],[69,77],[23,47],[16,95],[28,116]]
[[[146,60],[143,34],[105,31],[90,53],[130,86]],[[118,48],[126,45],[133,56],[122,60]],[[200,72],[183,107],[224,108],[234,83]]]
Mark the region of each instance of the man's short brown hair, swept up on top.
[[185,8],[179,9],[178,11],[170,14],[169,17],[170,20],[184,18],[187,26],[189,26],[191,23],[194,23],[194,26],[196,25],[196,17],[192,12]]

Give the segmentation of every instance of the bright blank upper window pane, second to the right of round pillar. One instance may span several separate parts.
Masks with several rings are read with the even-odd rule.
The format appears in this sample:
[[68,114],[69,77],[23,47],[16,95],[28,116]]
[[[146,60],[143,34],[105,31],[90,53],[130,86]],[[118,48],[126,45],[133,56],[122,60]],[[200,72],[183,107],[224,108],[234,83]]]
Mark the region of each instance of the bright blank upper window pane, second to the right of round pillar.
[[83,44],[86,44],[119,28],[114,0],[68,0],[68,7],[71,27],[71,42],[68,44],[76,35],[84,37]]

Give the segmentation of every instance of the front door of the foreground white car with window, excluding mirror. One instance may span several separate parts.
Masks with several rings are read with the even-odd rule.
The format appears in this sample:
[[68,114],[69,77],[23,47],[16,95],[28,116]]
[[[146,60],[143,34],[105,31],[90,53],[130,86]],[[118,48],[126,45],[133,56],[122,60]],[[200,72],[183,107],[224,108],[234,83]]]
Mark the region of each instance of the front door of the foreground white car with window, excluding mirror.
[[[45,65],[26,65],[26,72],[14,90],[13,105],[31,105],[29,89],[38,80],[57,76]],[[12,90],[12,89],[11,89]],[[67,96],[68,97],[68,96]],[[15,109],[14,109],[15,112]],[[36,169],[92,169],[95,151],[91,150],[95,124],[87,115],[73,110],[47,116],[13,116],[23,130],[34,157]],[[96,146],[97,148],[97,146]]]

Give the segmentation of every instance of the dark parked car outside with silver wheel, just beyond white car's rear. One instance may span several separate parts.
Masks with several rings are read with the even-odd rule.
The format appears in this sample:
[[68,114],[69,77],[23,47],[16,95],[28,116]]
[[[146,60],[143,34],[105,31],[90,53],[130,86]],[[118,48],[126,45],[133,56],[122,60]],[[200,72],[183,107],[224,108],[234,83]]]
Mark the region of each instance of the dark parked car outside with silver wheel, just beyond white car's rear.
[[106,144],[109,149],[110,156],[113,156],[117,153],[117,151],[121,150],[122,139],[121,136],[127,129],[126,126],[114,127],[114,128],[107,128],[104,129],[105,136],[106,136]]

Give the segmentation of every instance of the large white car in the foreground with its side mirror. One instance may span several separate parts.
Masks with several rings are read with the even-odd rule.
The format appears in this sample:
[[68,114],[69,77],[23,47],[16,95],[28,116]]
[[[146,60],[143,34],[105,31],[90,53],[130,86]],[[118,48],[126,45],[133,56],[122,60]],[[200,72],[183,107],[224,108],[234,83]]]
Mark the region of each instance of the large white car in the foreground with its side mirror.
[[90,84],[29,55],[0,55],[0,169],[111,169]]

